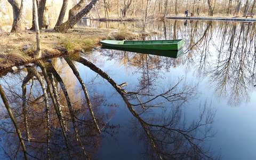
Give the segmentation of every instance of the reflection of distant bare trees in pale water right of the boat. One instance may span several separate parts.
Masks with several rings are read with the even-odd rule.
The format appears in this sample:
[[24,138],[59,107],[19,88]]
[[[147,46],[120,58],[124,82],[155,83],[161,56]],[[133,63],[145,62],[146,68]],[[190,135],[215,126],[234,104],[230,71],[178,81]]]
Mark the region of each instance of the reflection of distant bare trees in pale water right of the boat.
[[[148,26],[149,29],[162,34],[153,35],[150,39],[182,38],[186,43],[185,55],[178,59],[154,57],[157,61],[152,62],[158,65],[158,71],[163,67],[169,69],[183,65],[201,77],[211,77],[213,88],[218,94],[230,100],[235,99],[233,102],[241,102],[244,95],[247,100],[249,91],[255,85],[255,26],[256,23],[215,21],[189,21],[187,26],[178,20],[154,23],[151,28]],[[126,53],[125,56],[122,52],[121,55],[120,52],[113,53],[111,59],[126,60],[123,61],[126,67],[138,69],[141,66],[147,69],[147,62],[143,62],[142,58],[148,62],[153,59],[145,59],[145,56],[135,53]],[[141,65],[142,62],[145,65]],[[149,73],[154,73],[154,70],[149,68]]]

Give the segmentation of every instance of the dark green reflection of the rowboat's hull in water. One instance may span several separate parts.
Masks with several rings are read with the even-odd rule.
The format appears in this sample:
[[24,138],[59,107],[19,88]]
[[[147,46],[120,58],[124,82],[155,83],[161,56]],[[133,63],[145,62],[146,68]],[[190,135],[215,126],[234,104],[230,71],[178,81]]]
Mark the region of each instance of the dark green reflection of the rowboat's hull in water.
[[111,50],[143,53],[143,54],[153,54],[153,55],[160,55],[160,56],[170,57],[170,58],[178,58],[181,54],[183,54],[183,48],[180,49],[179,51],[174,51],[174,50],[126,49],[126,48],[120,48],[120,47],[102,46],[101,49],[111,49]]

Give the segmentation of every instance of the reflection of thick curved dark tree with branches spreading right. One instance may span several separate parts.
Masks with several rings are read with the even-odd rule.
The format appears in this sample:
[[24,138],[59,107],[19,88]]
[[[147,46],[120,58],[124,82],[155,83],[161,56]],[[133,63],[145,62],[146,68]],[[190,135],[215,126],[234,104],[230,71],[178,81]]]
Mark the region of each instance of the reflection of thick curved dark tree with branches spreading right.
[[[131,114],[138,119],[146,135],[146,139],[151,146],[150,154],[153,157],[157,159],[211,158],[207,155],[207,151],[203,149],[203,146],[201,146],[201,142],[211,135],[210,131],[214,113],[211,110],[207,111],[205,107],[201,114],[199,114],[199,120],[194,121],[190,126],[187,127],[184,123],[182,124],[180,122],[180,105],[193,96],[193,87],[184,86],[179,90],[179,81],[170,87],[169,90],[158,95],[140,93],[140,90],[137,92],[127,92],[123,89],[123,85],[116,84],[111,77],[90,61],[82,57],[76,58],[75,61],[89,67],[102,78],[106,79],[121,95]],[[172,110],[172,116],[164,117],[162,121],[161,118],[157,119],[156,117],[147,117],[148,120],[142,118],[146,110],[160,107],[159,105],[163,101],[171,103],[178,102],[180,105]],[[134,102],[137,102],[137,104]],[[141,107],[140,109],[137,108],[139,106]],[[138,113],[136,110],[141,111]],[[204,133],[201,132],[201,135],[198,136],[197,131],[201,130],[201,128],[204,128]]]

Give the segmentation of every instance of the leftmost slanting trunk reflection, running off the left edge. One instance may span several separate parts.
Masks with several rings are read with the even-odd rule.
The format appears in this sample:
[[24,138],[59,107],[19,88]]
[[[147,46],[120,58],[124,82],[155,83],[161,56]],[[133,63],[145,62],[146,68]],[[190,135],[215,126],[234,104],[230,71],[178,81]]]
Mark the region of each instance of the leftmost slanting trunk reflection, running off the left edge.
[[1,98],[2,98],[2,100],[3,100],[3,102],[4,102],[4,106],[5,106],[6,110],[8,111],[8,114],[9,114],[9,116],[10,116],[10,118],[11,118],[11,120],[12,120],[12,123],[13,123],[13,125],[14,125],[14,127],[15,127],[15,130],[16,130],[16,132],[17,132],[17,134],[18,134],[18,138],[19,138],[19,141],[20,141],[22,150],[23,150],[24,158],[25,158],[25,159],[28,159],[28,158],[27,158],[27,152],[26,152],[25,143],[24,143],[24,141],[23,141],[23,139],[22,139],[20,129],[19,129],[19,127],[18,127],[18,124],[17,124],[16,119],[14,118],[14,116],[13,116],[13,114],[12,114],[12,109],[11,109],[11,107],[9,106],[9,103],[8,103],[8,101],[7,101],[7,98],[6,98],[6,96],[5,96],[5,93],[4,93],[4,90],[3,90],[2,86],[1,86],[1,84],[0,84],[0,94],[1,94]]

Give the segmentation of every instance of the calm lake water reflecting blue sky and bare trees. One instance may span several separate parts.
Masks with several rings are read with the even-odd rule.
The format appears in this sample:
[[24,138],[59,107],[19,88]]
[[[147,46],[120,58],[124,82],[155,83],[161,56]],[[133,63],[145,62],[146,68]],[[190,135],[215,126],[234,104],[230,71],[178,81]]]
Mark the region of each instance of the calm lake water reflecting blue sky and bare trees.
[[[139,22],[87,20],[82,25],[141,27]],[[47,157],[47,140],[51,159],[256,158],[256,23],[166,20],[150,22],[147,29],[160,33],[147,39],[184,39],[184,53],[174,59],[101,49],[1,78],[30,159]],[[70,64],[85,84],[91,111]],[[45,79],[62,84],[54,95],[62,118],[50,94],[49,111],[45,109],[33,74],[33,80],[23,83],[26,99],[24,87],[22,97],[22,82],[33,71],[45,85]],[[0,157],[20,159],[22,148],[4,105],[0,116]]]

